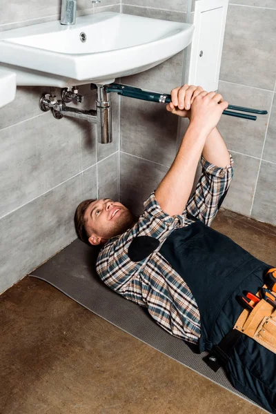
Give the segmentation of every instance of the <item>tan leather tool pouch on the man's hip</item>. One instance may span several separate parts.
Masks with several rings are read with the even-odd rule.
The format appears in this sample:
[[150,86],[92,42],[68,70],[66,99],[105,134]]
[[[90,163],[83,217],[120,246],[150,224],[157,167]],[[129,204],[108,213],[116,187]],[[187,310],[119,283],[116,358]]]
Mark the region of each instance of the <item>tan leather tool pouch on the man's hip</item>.
[[251,312],[246,309],[242,311],[235,329],[276,353],[276,309],[264,299]]

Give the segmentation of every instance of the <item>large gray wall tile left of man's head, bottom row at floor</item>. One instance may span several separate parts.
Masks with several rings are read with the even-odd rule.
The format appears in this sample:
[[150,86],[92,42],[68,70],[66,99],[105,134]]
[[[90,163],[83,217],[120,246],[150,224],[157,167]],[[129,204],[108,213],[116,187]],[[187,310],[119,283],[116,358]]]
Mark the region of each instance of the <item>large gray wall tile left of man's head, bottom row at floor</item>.
[[76,239],[75,208],[88,193],[97,197],[95,166],[90,180],[77,175],[0,220],[0,292]]

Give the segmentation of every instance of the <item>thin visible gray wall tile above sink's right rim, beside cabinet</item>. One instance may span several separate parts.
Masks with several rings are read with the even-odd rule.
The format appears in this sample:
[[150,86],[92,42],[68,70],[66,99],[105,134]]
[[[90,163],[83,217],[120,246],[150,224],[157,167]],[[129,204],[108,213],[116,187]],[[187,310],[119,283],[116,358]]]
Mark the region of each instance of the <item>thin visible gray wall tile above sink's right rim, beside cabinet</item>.
[[152,19],[161,19],[169,21],[180,21],[186,22],[186,13],[184,12],[173,12],[170,10],[159,10],[153,8],[127,6],[123,4],[123,13],[134,14],[135,16],[150,17]]

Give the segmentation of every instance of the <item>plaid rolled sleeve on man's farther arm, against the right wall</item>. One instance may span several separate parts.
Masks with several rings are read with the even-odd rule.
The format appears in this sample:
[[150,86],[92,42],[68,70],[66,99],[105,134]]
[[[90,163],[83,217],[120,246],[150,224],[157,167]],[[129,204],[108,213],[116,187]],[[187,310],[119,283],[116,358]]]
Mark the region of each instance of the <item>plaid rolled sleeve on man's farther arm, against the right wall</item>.
[[210,226],[230,187],[233,178],[233,165],[232,155],[230,155],[230,164],[224,168],[210,164],[203,155],[201,156],[202,173],[195,193],[188,199],[187,213]]

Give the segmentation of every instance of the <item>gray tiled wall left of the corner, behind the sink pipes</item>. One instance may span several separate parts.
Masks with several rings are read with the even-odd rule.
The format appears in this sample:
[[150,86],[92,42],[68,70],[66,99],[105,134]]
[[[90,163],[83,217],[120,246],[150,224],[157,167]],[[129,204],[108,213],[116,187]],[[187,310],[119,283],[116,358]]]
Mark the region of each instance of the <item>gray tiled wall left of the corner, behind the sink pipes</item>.
[[[0,31],[59,19],[60,3],[2,0]],[[119,10],[119,0],[95,6]],[[90,0],[78,1],[78,14],[92,11]],[[119,97],[112,96],[113,142],[103,145],[88,122],[41,112],[48,91],[18,87],[15,100],[0,108],[0,293],[76,238],[80,201],[119,198]],[[80,92],[83,108],[95,108],[95,92]]]

